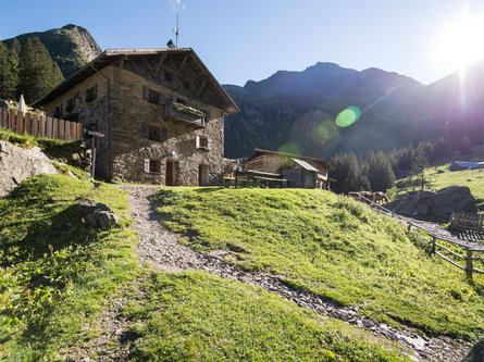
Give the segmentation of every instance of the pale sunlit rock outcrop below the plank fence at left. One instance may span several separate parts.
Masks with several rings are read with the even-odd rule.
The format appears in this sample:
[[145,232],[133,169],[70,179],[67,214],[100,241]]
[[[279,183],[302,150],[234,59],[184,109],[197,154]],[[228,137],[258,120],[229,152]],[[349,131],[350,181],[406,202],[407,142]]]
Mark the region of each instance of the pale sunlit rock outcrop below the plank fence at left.
[[57,173],[52,162],[38,147],[26,149],[0,140],[0,198],[27,177]]

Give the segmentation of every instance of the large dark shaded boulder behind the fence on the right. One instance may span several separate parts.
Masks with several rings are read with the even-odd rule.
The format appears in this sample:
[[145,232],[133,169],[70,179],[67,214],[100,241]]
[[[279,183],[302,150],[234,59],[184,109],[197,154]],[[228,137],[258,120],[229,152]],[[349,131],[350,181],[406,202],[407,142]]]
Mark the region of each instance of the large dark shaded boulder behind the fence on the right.
[[406,192],[386,203],[384,208],[408,216],[449,217],[452,211],[476,211],[475,199],[467,186],[449,186],[438,191]]

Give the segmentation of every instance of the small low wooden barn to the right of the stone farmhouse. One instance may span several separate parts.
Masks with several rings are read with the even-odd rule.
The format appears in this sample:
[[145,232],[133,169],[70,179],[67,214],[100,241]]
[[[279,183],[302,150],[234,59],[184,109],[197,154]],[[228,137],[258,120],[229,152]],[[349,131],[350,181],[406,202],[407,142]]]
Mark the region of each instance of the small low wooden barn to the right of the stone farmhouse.
[[288,187],[330,189],[335,182],[327,176],[333,170],[324,159],[256,149],[249,157],[248,171],[278,174]]

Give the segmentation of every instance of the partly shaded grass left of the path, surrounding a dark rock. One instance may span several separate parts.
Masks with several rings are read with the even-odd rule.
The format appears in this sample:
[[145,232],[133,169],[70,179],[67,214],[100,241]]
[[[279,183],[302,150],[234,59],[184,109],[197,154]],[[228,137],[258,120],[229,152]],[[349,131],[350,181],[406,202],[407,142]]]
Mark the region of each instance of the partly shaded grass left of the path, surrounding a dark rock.
[[[110,205],[119,227],[82,224],[86,198]],[[54,360],[91,338],[83,326],[138,273],[125,192],[62,175],[40,175],[0,200],[0,360]]]

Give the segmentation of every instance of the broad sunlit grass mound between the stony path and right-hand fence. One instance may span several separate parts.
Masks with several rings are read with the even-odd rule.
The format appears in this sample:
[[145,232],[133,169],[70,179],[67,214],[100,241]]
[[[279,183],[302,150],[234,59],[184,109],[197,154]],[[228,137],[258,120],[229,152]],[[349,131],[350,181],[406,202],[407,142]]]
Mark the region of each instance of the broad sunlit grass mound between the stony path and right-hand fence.
[[393,325],[475,339],[484,334],[484,278],[431,258],[421,236],[348,198],[321,190],[166,188],[166,225],[200,251]]

